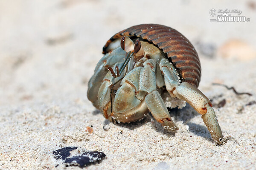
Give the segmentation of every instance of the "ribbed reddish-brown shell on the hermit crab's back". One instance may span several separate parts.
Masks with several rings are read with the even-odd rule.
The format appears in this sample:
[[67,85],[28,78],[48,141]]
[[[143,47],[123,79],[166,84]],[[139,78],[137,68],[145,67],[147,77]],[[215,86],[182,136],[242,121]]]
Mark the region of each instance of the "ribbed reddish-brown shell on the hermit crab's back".
[[158,24],[142,24],[132,26],[113,35],[103,47],[103,54],[108,53],[108,45],[123,36],[141,37],[148,40],[166,53],[180,73],[182,82],[188,82],[198,87],[201,77],[201,65],[194,46],[180,32],[173,28]]

